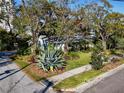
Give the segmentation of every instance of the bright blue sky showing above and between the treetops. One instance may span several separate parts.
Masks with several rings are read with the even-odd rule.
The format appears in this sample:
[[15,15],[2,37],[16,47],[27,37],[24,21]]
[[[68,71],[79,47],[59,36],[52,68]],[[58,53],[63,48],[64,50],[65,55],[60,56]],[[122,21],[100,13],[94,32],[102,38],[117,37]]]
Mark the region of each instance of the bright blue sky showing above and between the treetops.
[[[88,0],[78,0],[76,5],[85,4]],[[95,0],[96,2],[100,3],[100,0]],[[112,10],[114,12],[119,12],[124,14],[124,0],[108,0],[110,4],[113,6]],[[16,3],[19,4],[20,0],[16,0]],[[74,5],[70,5],[71,8],[74,8]]]

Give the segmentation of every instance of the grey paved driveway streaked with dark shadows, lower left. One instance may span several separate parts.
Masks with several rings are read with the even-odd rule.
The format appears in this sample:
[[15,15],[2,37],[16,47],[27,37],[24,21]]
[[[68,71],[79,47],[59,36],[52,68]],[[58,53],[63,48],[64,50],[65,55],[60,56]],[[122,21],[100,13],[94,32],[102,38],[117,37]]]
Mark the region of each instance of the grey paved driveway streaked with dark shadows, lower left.
[[0,93],[53,93],[26,76],[15,63],[0,61]]

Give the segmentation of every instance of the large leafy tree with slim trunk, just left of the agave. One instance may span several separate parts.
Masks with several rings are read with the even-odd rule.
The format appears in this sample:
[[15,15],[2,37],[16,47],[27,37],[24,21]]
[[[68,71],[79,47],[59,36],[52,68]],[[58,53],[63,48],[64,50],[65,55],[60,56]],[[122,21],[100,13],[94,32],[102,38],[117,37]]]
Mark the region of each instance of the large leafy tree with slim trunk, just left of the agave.
[[44,17],[46,10],[50,8],[47,0],[22,0],[22,5],[16,9],[18,11],[15,15],[16,20],[13,21],[14,27],[23,36],[31,35],[34,55],[38,34],[43,26],[40,18]]

